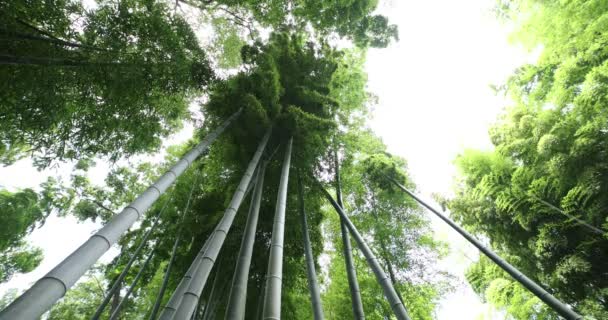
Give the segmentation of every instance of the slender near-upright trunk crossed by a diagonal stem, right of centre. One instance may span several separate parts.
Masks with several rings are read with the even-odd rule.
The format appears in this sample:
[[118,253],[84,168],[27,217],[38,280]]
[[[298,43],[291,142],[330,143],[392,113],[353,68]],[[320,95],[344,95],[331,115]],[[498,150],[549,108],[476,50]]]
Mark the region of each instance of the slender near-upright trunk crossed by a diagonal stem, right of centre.
[[[335,175],[335,187],[336,187],[336,198],[340,207],[344,207],[342,203],[342,186],[340,181],[340,163],[338,161],[338,152],[334,149],[334,168],[336,170]],[[363,301],[361,301],[361,290],[359,289],[359,281],[357,281],[357,271],[353,263],[352,247],[350,245],[350,236],[348,235],[348,229],[344,219],[340,217],[340,233],[342,235],[342,252],[344,254],[344,264],[346,266],[346,275],[348,278],[348,287],[350,289],[350,298],[353,308],[354,319],[365,319],[365,312],[363,311]]]

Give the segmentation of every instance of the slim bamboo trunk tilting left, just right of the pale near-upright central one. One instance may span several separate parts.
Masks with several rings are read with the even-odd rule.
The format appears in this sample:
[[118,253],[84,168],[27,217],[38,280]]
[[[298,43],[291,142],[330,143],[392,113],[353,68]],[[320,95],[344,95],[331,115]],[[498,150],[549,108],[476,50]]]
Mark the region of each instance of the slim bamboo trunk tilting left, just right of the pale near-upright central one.
[[312,254],[310,245],[310,236],[308,234],[308,221],[306,220],[306,210],[304,208],[304,190],[302,179],[298,172],[298,202],[300,209],[300,218],[302,222],[302,237],[304,238],[304,254],[306,256],[306,275],[308,278],[308,290],[310,291],[310,302],[315,320],[322,320],[323,306],[321,305],[321,295],[319,294],[319,284],[317,283],[317,273],[315,271],[315,260]]

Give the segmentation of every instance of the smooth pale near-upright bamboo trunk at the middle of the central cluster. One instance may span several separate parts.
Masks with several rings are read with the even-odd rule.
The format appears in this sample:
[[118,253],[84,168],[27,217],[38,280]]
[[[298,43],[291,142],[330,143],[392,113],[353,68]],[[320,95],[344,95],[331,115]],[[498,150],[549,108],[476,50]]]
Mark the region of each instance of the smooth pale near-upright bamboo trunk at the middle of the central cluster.
[[285,158],[281,169],[279,194],[277,196],[274,223],[272,225],[272,240],[270,242],[270,258],[266,274],[266,292],[264,293],[263,319],[281,318],[281,285],[283,279],[283,242],[285,232],[285,207],[287,205],[287,185],[289,183],[289,167],[291,164],[291,147],[293,138],[289,139],[285,148]]

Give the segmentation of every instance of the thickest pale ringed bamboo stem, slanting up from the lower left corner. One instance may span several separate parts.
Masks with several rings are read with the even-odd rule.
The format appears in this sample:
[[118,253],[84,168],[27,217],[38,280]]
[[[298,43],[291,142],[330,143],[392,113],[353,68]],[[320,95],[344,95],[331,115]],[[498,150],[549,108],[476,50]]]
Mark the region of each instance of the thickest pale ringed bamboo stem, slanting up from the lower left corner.
[[38,280],[30,289],[13,301],[0,313],[1,320],[34,320],[49,310],[65,295],[67,290],[112,247],[114,243],[137,221],[152,204],[175,182],[209,145],[238,117],[235,112],[203,141],[173,165],[154,184],[115,215],[101,230],[82,244],[53,270]]

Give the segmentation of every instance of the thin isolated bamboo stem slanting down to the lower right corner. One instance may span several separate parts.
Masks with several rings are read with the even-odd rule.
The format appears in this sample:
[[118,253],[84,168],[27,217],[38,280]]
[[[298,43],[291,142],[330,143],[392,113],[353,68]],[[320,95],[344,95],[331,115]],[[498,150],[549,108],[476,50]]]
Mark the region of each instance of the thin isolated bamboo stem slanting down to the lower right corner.
[[467,239],[470,243],[472,243],[475,247],[477,247],[477,249],[479,249],[479,251],[481,251],[488,258],[490,258],[490,260],[494,261],[494,263],[496,263],[499,267],[501,267],[508,274],[510,274],[515,280],[517,280],[517,282],[521,283],[524,287],[526,287],[528,290],[530,290],[530,292],[532,292],[535,296],[537,296],[539,299],[544,301],[549,307],[551,307],[553,310],[555,310],[557,313],[559,313],[562,317],[564,317],[566,319],[583,319],[583,317],[581,315],[576,313],[574,310],[570,309],[565,303],[559,301],[557,298],[555,298],[553,295],[551,295],[549,292],[547,292],[545,289],[543,289],[536,282],[532,281],[532,279],[528,278],[526,275],[521,273],[521,271],[519,271],[517,268],[512,266],[510,263],[508,263],[503,258],[501,258],[494,251],[492,251],[491,249],[489,249],[486,246],[484,246],[483,244],[481,244],[481,242],[479,242],[470,233],[468,233],[463,228],[461,228],[459,225],[457,225],[454,221],[452,221],[452,219],[444,216],[439,211],[437,211],[435,208],[431,207],[426,202],[422,201],[422,199],[418,198],[414,193],[409,191],[407,188],[405,188],[399,182],[395,181],[392,178],[389,178],[389,177],[387,177],[387,178],[390,181],[392,181],[403,192],[407,193],[410,197],[412,197],[416,201],[418,201],[418,203],[420,203],[421,205],[423,205],[424,207],[429,209],[431,212],[433,212],[435,215],[437,215],[437,217],[439,217],[445,223],[450,225],[450,227],[452,227],[452,229],[454,229],[454,230],[456,230],[456,232],[460,233],[460,235],[462,235],[465,239]]

